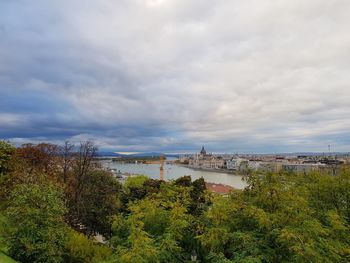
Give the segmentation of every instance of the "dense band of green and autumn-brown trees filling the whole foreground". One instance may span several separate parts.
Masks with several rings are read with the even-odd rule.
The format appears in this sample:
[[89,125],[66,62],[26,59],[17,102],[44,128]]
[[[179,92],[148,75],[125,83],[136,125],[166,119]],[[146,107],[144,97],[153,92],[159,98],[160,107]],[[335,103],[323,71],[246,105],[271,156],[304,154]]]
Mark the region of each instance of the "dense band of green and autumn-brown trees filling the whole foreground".
[[96,150],[0,143],[0,259],[350,262],[346,167],[336,176],[251,174],[246,189],[220,196],[189,176],[122,185]]

